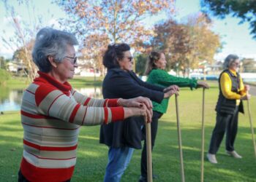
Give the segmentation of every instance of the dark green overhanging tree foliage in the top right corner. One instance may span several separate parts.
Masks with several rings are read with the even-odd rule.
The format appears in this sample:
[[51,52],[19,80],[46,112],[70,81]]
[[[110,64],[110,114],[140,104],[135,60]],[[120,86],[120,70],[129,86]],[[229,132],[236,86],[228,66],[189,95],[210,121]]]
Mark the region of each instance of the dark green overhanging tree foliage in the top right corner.
[[225,18],[226,15],[240,17],[241,22],[249,22],[251,34],[256,39],[256,2],[255,0],[201,0],[204,12],[212,12],[215,16]]

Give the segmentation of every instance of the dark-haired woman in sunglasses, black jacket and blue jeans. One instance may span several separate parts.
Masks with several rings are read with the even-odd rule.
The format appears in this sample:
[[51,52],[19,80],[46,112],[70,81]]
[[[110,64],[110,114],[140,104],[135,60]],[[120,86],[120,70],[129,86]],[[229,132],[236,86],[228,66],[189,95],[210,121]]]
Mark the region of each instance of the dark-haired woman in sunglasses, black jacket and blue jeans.
[[[103,64],[108,68],[102,85],[104,98],[134,98],[143,96],[160,103],[163,98],[170,98],[178,93],[178,87],[165,87],[148,84],[141,81],[132,72],[132,55],[128,44],[113,44],[108,46],[103,58]],[[108,166],[104,181],[121,181],[121,175],[127,168],[134,149],[141,149],[144,122],[141,117],[131,117],[124,122],[102,126],[100,143],[109,146]]]

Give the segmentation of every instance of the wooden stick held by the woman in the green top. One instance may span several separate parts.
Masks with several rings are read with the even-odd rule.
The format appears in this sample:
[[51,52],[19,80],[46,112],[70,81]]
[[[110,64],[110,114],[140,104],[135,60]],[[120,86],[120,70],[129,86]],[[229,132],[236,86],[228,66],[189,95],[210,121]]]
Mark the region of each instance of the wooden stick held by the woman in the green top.
[[202,108],[202,148],[201,148],[201,182],[203,182],[203,164],[205,149],[205,88],[203,88],[203,108]]

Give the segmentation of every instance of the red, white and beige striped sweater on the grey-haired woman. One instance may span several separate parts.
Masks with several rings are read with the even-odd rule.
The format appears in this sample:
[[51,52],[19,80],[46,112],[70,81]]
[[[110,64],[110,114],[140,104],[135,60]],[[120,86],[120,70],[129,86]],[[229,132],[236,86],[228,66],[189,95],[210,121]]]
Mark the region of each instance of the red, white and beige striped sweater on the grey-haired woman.
[[124,108],[117,99],[87,98],[68,82],[38,74],[23,93],[20,170],[29,181],[67,181],[75,167],[79,127],[123,120]]

